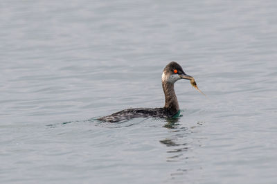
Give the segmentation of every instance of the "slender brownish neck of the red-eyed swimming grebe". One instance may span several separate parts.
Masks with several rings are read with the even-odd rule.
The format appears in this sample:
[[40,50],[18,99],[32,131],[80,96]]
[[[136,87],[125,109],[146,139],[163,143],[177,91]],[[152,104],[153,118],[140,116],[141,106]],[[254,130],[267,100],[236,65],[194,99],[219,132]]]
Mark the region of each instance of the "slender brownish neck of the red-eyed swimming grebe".
[[177,113],[179,111],[179,104],[174,91],[174,83],[163,82],[163,92],[166,99],[164,108],[168,109],[172,114]]

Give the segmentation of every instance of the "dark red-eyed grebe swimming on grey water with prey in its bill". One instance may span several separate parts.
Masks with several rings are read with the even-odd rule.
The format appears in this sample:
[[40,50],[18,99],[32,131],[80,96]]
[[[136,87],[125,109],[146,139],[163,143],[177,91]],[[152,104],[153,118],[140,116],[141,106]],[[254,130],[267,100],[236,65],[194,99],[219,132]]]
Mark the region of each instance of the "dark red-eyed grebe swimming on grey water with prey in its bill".
[[[165,105],[161,108],[134,108],[118,111],[109,116],[98,118],[100,121],[119,122],[122,120],[129,120],[132,118],[174,118],[179,116],[180,109],[177,96],[174,90],[174,84],[177,80],[191,80],[194,79],[187,75],[183,68],[177,62],[170,62],[166,68],[163,69],[161,75],[161,83],[165,95]],[[196,85],[196,83],[195,83]]]

